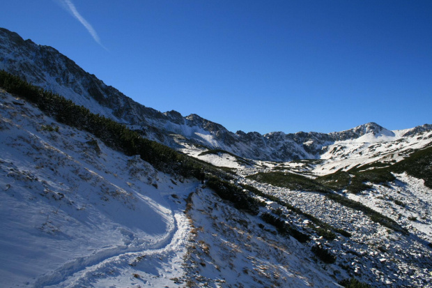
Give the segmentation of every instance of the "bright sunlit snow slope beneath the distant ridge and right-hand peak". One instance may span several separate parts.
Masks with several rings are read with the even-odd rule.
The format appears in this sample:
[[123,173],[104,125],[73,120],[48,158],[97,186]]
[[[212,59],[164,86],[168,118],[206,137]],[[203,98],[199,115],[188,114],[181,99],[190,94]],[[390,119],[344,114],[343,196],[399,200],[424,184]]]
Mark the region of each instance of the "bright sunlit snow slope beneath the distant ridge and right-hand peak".
[[[232,153],[220,150],[208,150],[202,146],[185,144],[179,149],[183,153],[210,162],[219,167],[236,168],[239,171],[248,167],[272,167],[274,169],[294,169],[298,172],[309,172],[316,176],[331,174],[339,169],[347,171],[353,167],[380,162],[383,165],[392,165],[410,155],[413,151],[423,149],[432,145],[432,130],[429,125],[418,126],[406,130],[389,131],[385,128],[384,133],[374,132],[375,130],[364,129],[367,126],[376,126],[375,123],[368,123],[351,130],[339,133],[330,133],[339,137],[335,142],[329,142],[321,148],[321,155],[316,158],[293,160],[288,162],[248,160],[233,156]],[[355,130],[364,130],[359,137],[341,135],[352,135]],[[359,134],[360,135],[360,134]],[[347,139],[348,138],[348,139]],[[315,145],[317,142],[309,141],[307,144]],[[217,152],[217,153],[216,153]]]

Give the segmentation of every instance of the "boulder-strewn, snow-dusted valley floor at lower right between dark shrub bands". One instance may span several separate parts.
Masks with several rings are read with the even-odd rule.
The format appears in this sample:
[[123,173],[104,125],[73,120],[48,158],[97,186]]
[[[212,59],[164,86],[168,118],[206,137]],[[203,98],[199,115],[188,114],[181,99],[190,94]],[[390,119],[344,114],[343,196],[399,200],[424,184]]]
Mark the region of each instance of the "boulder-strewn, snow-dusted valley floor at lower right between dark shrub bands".
[[[371,220],[363,212],[341,206],[325,197],[323,193],[279,188],[242,178],[238,181],[243,181],[269,195],[278,197],[336,229],[349,232],[352,235],[349,238],[337,234],[334,240],[327,240],[309,229],[310,219],[292,211],[286,213],[287,221],[291,225],[300,231],[314,235],[307,245],[321,243],[337,255],[336,264],[339,266],[340,276],[348,273],[348,278],[355,277],[373,287],[389,287],[389,285],[391,287],[410,287],[412,285],[413,287],[432,287],[432,249],[428,242],[431,236],[431,220],[430,217],[424,219],[424,215],[430,215],[431,194],[427,188],[417,191],[410,190],[412,185],[418,188],[416,184],[418,179],[406,178],[406,183],[398,181],[399,184],[389,188],[389,190],[394,190],[394,194],[399,194],[396,192],[398,190],[401,191],[399,197],[403,197],[409,209],[401,217],[392,217],[408,229],[408,235],[387,229]],[[374,202],[376,197],[386,197],[385,193],[380,192],[383,186],[378,186],[380,185],[376,185],[370,192],[373,195],[372,199],[365,199],[364,195],[348,195],[348,197],[389,217],[394,216],[395,213],[387,209],[387,205],[383,206]],[[425,191],[426,197],[422,195],[422,192]],[[412,195],[417,195],[417,198],[412,198]],[[405,197],[410,200],[408,201]],[[418,203],[422,203],[422,206],[417,205]],[[272,209],[279,208],[286,211],[284,207],[275,203],[268,206]],[[380,207],[385,207],[385,209],[379,209]],[[419,219],[415,223],[407,220],[412,214]]]

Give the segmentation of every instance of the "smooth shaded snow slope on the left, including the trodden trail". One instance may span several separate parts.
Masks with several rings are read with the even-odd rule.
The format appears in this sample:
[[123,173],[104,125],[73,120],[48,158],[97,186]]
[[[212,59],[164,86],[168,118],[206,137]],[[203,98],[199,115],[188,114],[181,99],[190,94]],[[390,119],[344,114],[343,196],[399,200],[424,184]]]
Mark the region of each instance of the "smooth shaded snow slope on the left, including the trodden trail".
[[0,115],[1,287],[164,287],[185,274],[190,224],[171,195],[186,197],[196,181],[4,91]]

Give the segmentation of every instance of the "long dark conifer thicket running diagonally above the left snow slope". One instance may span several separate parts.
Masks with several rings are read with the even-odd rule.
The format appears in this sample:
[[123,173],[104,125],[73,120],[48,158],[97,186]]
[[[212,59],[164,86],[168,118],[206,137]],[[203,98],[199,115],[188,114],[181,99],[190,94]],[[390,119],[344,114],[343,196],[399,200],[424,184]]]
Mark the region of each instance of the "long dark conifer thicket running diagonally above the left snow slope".
[[194,177],[201,181],[206,179],[206,175],[211,175],[208,177],[208,185],[219,197],[233,202],[238,209],[252,214],[258,213],[256,199],[243,192],[242,188],[225,181],[232,179],[232,176],[222,169],[145,139],[121,123],[93,114],[84,106],[75,105],[63,96],[31,85],[3,70],[0,70],[0,87],[34,103],[41,111],[60,123],[90,132],[112,149],[122,151],[127,156],[139,155],[142,160],[151,163],[162,172],[178,174],[185,178]]

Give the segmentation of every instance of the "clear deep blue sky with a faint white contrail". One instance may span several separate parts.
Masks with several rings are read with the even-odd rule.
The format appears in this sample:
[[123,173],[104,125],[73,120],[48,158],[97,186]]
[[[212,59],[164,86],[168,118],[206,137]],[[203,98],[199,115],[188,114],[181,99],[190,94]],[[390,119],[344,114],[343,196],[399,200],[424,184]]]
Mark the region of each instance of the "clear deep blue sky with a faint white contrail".
[[5,0],[1,10],[0,26],[137,102],[233,132],[432,123],[430,0]]

